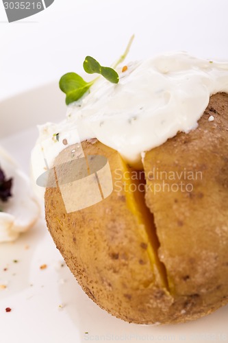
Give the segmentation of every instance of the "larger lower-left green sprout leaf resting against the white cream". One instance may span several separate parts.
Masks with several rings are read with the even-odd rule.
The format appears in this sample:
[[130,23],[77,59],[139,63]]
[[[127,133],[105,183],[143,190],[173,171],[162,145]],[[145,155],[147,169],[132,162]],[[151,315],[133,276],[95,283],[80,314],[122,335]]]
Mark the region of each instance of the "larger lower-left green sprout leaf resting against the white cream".
[[66,94],[66,105],[76,102],[88,91],[93,82],[86,82],[76,73],[67,73],[60,79],[60,89]]

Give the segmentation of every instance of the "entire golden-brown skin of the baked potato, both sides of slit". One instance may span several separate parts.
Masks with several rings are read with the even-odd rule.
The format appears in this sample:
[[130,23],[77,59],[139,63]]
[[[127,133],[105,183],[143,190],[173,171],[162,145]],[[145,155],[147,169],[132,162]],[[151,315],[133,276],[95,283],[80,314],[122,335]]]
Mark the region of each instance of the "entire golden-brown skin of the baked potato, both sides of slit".
[[[210,115],[213,122],[207,120]],[[169,324],[197,319],[227,303],[227,130],[228,96],[217,94],[199,128],[177,134],[144,157],[146,201],[155,217],[168,290],[156,265],[151,265],[147,241],[123,187],[118,187],[121,158],[115,150],[99,141],[82,143],[86,154],[106,156],[110,163],[114,191],[102,202],[67,214],[60,189],[46,190],[49,232],[81,287],[101,308],[127,322]],[[58,161],[64,154],[66,150]],[[162,182],[149,179],[154,167],[203,171],[203,178],[189,181],[194,186],[191,193],[154,193],[154,183]]]

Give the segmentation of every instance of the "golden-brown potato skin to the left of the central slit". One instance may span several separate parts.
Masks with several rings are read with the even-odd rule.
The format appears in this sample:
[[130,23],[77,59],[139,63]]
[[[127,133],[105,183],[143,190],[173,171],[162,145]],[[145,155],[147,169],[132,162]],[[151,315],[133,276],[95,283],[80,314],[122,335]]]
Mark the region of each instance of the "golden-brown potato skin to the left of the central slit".
[[94,206],[66,214],[60,190],[47,189],[51,236],[81,287],[101,308],[128,322],[166,322],[163,309],[170,308],[173,298],[162,289],[156,268],[151,269],[147,241],[127,207],[125,192],[118,191],[115,170],[122,168],[121,158],[99,141],[82,146],[87,154],[108,158],[114,191]]

